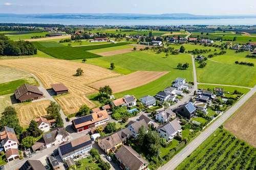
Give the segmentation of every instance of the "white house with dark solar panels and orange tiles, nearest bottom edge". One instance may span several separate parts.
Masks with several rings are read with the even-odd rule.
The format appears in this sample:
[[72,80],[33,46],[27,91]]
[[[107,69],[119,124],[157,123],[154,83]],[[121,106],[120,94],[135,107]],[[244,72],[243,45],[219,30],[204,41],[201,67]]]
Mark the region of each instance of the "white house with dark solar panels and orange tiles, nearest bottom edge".
[[90,135],[85,135],[69,142],[62,142],[58,147],[60,158],[67,160],[78,155],[89,154],[92,149]]

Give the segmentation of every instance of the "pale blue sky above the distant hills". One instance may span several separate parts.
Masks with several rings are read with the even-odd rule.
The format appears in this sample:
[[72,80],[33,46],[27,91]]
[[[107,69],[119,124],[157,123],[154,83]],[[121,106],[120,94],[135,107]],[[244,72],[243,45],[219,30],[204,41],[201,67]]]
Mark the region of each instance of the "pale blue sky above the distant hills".
[[256,15],[256,0],[0,0],[0,13]]

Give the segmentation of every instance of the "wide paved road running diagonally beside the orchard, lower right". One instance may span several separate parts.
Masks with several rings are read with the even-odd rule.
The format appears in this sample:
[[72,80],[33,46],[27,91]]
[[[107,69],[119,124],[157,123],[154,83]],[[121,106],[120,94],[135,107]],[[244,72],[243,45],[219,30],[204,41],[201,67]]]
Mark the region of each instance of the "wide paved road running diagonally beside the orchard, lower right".
[[233,105],[219,119],[212,123],[205,131],[203,131],[196,139],[191,141],[180,153],[173,157],[168,163],[162,166],[161,170],[175,169],[188,155],[199,147],[214,131],[221,126],[234,112],[236,112],[254,93],[256,86],[251,89],[240,101]]

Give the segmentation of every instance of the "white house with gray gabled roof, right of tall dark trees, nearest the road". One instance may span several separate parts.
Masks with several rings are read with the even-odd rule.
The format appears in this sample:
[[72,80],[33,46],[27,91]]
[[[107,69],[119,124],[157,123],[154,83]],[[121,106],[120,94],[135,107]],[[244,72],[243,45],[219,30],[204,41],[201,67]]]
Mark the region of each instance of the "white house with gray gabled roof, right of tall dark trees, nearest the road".
[[172,122],[159,125],[157,127],[157,133],[165,138],[165,140],[172,141],[175,136],[181,133],[182,129],[177,119],[172,120]]

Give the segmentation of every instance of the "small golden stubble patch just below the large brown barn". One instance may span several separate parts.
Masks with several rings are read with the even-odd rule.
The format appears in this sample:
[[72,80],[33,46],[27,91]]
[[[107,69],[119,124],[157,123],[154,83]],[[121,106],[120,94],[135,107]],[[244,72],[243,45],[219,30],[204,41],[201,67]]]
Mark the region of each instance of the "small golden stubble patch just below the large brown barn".
[[46,108],[50,105],[50,100],[32,102],[27,105],[20,106],[17,109],[17,116],[19,119],[20,126],[26,127],[29,125],[32,119],[38,116],[45,116]]

